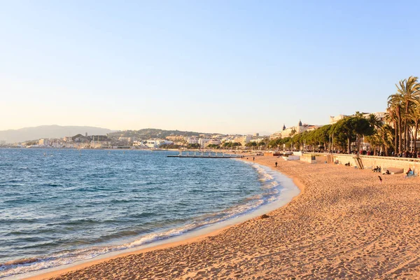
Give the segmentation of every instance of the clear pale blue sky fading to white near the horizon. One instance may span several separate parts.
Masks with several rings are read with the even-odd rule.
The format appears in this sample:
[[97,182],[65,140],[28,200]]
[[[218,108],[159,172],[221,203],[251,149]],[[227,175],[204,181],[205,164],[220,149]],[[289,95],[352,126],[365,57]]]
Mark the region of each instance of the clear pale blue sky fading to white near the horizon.
[[0,3],[0,130],[274,132],[420,75],[419,1]]

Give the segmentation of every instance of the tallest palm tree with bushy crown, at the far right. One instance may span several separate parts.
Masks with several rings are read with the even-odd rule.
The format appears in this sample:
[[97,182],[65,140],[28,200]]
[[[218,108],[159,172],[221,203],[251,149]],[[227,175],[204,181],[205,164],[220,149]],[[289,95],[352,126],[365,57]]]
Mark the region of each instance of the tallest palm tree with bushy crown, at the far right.
[[417,83],[418,78],[414,76],[409,76],[408,79],[400,80],[399,85],[395,85],[397,87],[397,92],[401,94],[402,103],[405,109],[404,113],[404,148],[407,149],[408,147],[408,129],[407,123],[409,120],[409,109],[414,104],[414,102],[419,99],[420,94],[420,85]]

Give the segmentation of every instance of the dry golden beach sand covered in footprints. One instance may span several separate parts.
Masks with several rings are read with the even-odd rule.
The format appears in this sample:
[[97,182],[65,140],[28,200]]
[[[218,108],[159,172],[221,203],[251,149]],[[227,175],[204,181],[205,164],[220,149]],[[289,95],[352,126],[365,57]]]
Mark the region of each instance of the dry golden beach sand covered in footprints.
[[[248,157],[252,161],[252,157]],[[420,279],[420,179],[281,158],[303,191],[214,235],[53,272],[52,279]]]

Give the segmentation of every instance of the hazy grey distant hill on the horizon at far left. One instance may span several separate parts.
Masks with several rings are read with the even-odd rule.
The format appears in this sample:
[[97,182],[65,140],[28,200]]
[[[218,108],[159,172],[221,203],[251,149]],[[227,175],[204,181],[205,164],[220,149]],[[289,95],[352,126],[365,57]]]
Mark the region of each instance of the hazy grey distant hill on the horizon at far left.
[[60,126],[60,125],[41,125],[39,127],[25,127],[20,130],[0,131],[0,140],[6,143],[18,143],[41,138],[62,138],[83,134],[105,135],[115,130],[108,130],[101,127],[82,127],[82,126]]

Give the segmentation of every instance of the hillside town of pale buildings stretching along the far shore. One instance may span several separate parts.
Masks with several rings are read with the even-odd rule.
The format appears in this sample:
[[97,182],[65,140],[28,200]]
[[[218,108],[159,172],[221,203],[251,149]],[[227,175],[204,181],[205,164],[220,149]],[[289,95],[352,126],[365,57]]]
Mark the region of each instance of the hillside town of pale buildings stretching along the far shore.
[[[380,123],[385,123],[386,113],[356,113],[363,118],[374,116]],[[356,115],[352,115],[356,116]],[[339,115],[330,116],[330,124],[334,125],[351,116]],[[22,143],[6,144],[0,142],[1,147],[16,148],[75,148],[75,149],[208,149],[208,148],[229,148],[229,149],[283,149],[283,150],[304,150],[308,146],[300,145],[293,141],[299,135],[307,134],[318,130],[323,125],[308,125],[299,123],[293,127],[283,125],[282,129],[269,136],[260,136],[258,133],[239,134],[199,134],[197,132],[179,132],[165,130],[141,130],[112,132],[106,135],[76,134],[62,138],[42,138]],[[294,138],[293,138],[294,137]],[[361,142],[363,149],[369,148],[367,141]],[[282,141],[282,145],[279,143]],[[287,145],[286,145],[287,141]],[[318,145],[318,148],[325,148]]]

